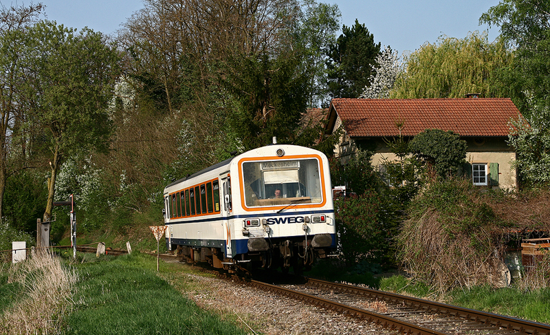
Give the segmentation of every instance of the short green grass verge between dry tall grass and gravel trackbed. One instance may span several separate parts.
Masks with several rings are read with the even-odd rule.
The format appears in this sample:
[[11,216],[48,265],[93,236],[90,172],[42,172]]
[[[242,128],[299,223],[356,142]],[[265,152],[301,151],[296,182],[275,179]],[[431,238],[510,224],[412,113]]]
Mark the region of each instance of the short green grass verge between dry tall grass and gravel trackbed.
[[[162,262],[161,272],[169,266]],[[89,259],[77,269],[74,309],[63,334],[246,334],[159,278],[148,255]]]

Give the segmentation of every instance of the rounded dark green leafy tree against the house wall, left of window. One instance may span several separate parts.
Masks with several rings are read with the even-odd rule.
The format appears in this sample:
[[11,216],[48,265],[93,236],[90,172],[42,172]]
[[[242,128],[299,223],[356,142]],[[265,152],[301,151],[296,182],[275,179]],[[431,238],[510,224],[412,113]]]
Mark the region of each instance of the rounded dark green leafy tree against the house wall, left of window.
[[428,177],[445,179],[456,175],[466,158],[466,141],[453,131],[426,129],[413,138],[408,148],[426,168]]

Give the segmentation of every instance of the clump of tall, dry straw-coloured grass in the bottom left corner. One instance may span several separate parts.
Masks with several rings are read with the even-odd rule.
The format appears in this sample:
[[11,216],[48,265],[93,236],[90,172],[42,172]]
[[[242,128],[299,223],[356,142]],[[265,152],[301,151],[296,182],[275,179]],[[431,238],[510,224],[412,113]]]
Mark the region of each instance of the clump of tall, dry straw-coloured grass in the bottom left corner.
[[58,334],[72,304],[77,277],[57,257],[39,252],[8,270],[2,290],[12,301],[0,317],[1,334]]

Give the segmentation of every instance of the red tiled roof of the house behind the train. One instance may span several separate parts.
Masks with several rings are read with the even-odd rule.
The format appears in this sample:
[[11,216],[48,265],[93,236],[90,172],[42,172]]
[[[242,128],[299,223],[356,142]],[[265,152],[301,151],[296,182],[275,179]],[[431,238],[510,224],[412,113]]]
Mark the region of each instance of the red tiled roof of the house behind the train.
[[[398,136],[395,125],[404,121],[403,136],[426,129],[452,130],[461,136],[508,136],[508,122],[518,119],[509,98],[459,99],[333,99],[351,137]],[[330,116],[329,116],[330,118]]]

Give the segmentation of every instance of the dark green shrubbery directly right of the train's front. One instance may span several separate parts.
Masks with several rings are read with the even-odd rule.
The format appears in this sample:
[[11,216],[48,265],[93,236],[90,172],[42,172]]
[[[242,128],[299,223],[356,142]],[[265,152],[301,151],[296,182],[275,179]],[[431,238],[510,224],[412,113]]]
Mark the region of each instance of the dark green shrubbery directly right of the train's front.
[[347,186],[347,197],[334,202],[343,259],[350,266],[364,261],[394,264],[392,236],[408,202],[401,199],[401,188],[388,188],[382,182],[366,151],[359,151],[344,167],[333,164],[331,177],[333,185]]

